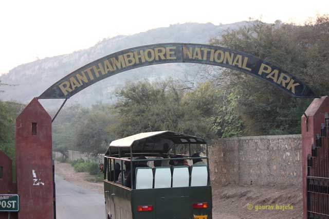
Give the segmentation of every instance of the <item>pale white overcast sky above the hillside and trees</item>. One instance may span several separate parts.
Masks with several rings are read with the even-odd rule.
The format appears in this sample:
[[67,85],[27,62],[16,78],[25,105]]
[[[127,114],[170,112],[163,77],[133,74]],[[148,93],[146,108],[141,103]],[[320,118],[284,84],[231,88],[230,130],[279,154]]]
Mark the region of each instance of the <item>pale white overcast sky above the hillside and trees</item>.
[[2,0],[0,75],[20,64],[92,47],[104,38],[170,24],[219,25],[252,17],[302,25],[322,14],[329,14],[328,0]]

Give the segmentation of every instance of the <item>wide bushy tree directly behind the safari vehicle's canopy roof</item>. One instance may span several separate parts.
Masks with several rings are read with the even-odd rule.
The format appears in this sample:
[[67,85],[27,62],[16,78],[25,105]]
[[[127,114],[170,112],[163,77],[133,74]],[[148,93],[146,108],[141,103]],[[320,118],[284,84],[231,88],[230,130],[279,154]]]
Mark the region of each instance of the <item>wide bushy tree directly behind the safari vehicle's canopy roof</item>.
[[126,84],[116,93],[117,123],[109,129],[116,138],[163,130],[207,139],[221,137],[225,131],[218,130],[224,130],[224,123],[218,122],[218,113],[225,119],[228,115],[218,109],[223,107],[222,92],[210,82],[200,84],[195,90],[185,88],[173,80]]

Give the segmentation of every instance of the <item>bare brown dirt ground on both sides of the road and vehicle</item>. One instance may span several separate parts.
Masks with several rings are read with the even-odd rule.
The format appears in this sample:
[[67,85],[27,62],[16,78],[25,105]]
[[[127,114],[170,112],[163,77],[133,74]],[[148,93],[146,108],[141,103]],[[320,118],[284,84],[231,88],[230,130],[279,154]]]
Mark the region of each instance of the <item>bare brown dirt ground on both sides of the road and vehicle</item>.
[[[55,172],[78,186],[103,193],[102,182],[88,181],[92,176],[88,173],[76,173],[69,163],[56,162]],[[301,219],[303,217],[301,188],[212,186],[212,195],[214,219]],[[284,210],[282,206],[286,206],[287,209]],[[248,210],[248,207],[252,209]]]

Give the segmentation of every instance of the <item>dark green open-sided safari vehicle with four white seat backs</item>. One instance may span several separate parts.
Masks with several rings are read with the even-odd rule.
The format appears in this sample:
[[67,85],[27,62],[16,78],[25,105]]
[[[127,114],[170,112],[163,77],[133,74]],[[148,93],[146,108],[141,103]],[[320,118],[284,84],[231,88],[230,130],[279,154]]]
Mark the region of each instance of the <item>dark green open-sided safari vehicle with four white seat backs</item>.
[[[206,156],[191,156],[193,148]],[[208,145],[202,138],[160,131],[112,141],[104,156],[104,178],[107,218],[212,218]]]

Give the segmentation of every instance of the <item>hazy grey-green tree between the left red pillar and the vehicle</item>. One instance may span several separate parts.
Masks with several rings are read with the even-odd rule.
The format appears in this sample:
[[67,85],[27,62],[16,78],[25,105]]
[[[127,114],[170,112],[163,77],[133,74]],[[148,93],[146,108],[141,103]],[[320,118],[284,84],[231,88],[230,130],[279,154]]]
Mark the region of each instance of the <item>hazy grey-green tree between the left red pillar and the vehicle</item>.
[[53,122],[53,151],[67,157],[68,150],[104,153],[113,135],[106,130],[113,122],[109,106],[96,104],[90,108],[79,104],[64,109]]

